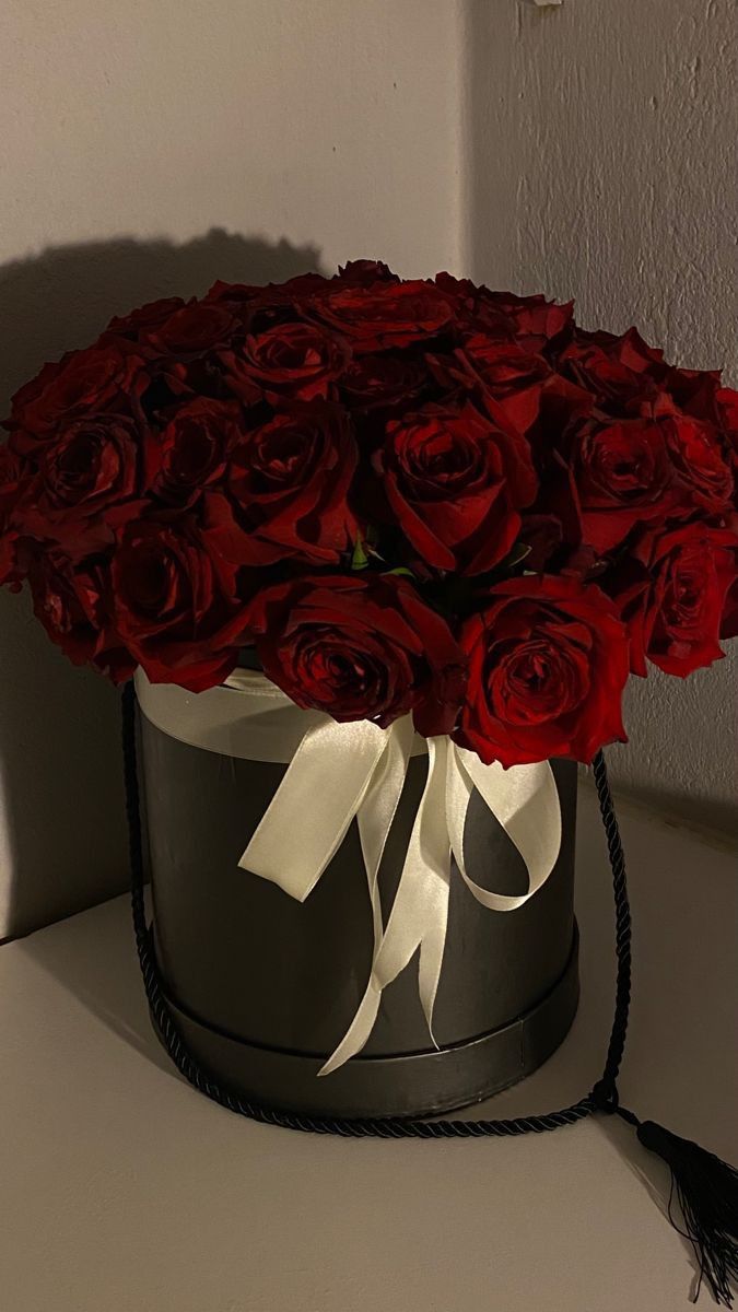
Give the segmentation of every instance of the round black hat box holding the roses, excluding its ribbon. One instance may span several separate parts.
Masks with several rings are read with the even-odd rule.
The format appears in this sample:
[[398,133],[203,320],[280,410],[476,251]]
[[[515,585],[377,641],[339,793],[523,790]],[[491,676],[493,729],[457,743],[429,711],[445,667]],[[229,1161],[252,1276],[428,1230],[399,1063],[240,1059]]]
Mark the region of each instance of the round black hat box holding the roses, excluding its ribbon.
[[[358,1056],[318,1072],[361,1001],[373,921],[356,820],[305,903],[239,869],[286,765],[243,760],[164,732],[139,714],[144,848],[154,935],[169,1005],[192,1054],[221,1084],[285,1111],[419,1117],[477,1102],[558,1047],[579,994],[573,911],[576,766],[552,762],[562,812],[558,861],[515,912],[479,905],[452,870],[448,937],[428,1034],[418,956],[383,991]],[[380,867],[385,924],[428,757],[410,760]],[[292,820],[301,841],[305,816]],[[523,893],[520,853],[474,794],[467,874]]]

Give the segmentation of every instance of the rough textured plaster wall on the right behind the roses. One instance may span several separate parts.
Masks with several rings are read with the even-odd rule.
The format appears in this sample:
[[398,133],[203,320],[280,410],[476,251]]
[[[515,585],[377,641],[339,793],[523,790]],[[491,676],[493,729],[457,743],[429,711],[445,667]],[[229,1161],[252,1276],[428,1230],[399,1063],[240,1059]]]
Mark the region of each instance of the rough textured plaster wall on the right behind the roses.
[[[466,264],[738,383],[734,0],[467,7]],[[734,644],[738,646],[738,644]],[[621,785],[735,829],[735,652],[628,694]]]

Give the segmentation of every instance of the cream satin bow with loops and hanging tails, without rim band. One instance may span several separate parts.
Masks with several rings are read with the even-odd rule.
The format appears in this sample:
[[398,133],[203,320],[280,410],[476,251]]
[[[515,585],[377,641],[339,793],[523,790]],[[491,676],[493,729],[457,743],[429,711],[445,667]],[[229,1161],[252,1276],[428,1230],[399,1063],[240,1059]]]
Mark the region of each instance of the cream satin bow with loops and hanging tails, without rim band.
[[[419,991],[433,1039],[433,1005],[446,938],[452,853],[461,878],[490,911],[515,911],[545,883],[561,846],[561,810],[548,762],[483,765],[448,737],[428,739],[428,778],[418,807],[395,900],[382,924],[378,872],[414,745],[410,716],[381,729],[366,720],[309,728],[239,866],[305,901],[357,819],[374,922],[374,958],[366,992],[320,1075],[361,1051],[382,989],[419,955]],[[466,872],[464,828],[473,790],[506,829],[528,870],[528,892],[487,892]],[[303,817],[299,844],[290,820]]]

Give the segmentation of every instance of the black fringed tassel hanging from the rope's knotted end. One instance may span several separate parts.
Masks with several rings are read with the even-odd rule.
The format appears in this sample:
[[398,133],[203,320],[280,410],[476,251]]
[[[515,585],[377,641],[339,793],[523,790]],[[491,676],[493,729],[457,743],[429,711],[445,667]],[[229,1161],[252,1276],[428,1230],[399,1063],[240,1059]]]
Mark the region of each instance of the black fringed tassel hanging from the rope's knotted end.
[[692,1241],[700,1267],[693,1302],[705,1279],[716,1303],[731,1308],[730,1286],[738,1284],[738,1170],[654,1120],[643,1120],[637,1132],[643,1148],[658,1153],[671,1168],[668,1219],[684,1235],[671,1215],[676,1190],[687,1227],[684,1237]]

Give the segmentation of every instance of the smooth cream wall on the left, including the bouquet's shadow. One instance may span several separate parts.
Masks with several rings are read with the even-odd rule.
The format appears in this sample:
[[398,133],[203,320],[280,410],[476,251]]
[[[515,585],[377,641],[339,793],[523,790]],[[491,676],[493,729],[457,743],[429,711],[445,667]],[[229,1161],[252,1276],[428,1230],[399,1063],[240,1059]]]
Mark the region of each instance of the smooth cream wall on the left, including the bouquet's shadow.
[[[116,311],[458,268],[456,0],[4,0],[0,409]],[[219,231],[211,231],[217,228]],[[117,702],[0,598],[0,937],[123,886]]]

